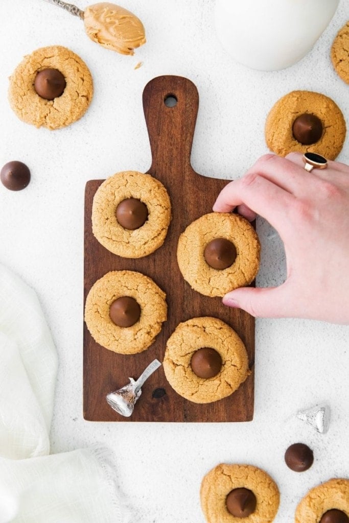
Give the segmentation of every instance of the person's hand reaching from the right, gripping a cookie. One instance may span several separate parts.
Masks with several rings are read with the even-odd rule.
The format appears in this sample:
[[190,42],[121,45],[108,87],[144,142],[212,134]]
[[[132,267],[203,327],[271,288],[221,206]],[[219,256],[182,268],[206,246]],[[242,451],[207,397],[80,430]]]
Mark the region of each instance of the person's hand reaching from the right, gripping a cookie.
[[213,211],[237,207],[265,218],[285,245],[287,278],[279,287],[244,287],[223,303],[253,316],[349,323],[349,167],[328,162],[308,173],[302,154],[266,154],[220,192]]

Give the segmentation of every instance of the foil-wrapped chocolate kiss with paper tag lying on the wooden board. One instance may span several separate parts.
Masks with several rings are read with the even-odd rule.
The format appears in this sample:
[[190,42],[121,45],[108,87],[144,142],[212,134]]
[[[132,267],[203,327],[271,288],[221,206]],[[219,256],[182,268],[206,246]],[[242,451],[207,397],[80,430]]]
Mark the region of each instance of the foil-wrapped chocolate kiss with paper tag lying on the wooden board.
[[121,416],[131,416],[134,410],[134,405],[142,394],[141,386],[160,366],[160,361],[155,359],[142,372],[137,381],[134,381],[133,378],[129,378],[130,383],[127,383],[117,391],[109,392],[106,397],[108,405],[110,405],[111,408],[114,408],[114,410],[118,414],[121,414]]

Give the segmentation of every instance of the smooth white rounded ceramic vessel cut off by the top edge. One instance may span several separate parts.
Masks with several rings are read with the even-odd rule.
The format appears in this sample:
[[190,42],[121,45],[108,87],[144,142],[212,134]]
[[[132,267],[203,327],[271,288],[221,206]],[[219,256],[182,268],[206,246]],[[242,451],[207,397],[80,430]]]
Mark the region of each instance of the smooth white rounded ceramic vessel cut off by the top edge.
[[216,0],[218,39],[252,69],[298,62],[329,25],[339,0]]

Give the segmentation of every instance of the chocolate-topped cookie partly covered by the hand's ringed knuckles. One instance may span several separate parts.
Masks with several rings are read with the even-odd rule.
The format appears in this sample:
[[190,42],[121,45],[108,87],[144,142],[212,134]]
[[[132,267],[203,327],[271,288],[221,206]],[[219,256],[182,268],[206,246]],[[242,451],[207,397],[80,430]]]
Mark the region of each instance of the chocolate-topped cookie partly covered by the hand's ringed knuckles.
[[280,156],[316,152],[328,160],[339,155],[346,126],[340,108],[328,96],[292,91],[272,107],[265,122],[265,140]]

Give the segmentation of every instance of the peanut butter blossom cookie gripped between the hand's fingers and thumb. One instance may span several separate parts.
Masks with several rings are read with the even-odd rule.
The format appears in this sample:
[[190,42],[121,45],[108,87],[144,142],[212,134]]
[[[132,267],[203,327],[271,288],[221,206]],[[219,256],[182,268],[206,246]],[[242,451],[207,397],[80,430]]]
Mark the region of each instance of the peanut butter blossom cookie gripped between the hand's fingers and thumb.
[[190,223],[177,247],[183,278],[206,296],[250,285],[260,264],[260,242],[239,214],[211,212]]

